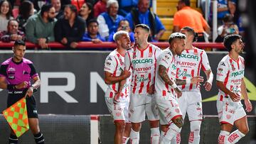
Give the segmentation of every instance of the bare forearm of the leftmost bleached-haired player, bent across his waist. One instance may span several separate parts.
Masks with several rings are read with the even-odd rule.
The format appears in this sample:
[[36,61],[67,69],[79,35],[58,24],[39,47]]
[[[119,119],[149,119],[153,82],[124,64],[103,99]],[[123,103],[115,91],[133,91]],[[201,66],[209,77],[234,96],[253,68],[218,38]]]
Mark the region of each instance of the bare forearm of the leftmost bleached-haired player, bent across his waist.
[[105,77],[104,80],[105,80],[106,84],[114,84],[114,83],[120,82],[120,81],[126,79],[129,76],[130,76],[130,74],[121,74],[118,77],[113,77],[112,73],[104,72],[104,77]]

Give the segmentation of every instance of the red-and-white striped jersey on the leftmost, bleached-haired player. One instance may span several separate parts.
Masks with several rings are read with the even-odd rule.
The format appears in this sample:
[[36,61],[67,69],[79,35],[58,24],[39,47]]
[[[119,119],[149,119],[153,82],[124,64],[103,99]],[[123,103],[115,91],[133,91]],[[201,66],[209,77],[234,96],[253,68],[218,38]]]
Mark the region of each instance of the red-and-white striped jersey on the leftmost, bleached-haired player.
[[[107,55],[107,58],[105,60],[105,72],[110,72],[112,74],[112,77],[118,77],[121,75],[122,71],[124,70],[124,56],[119,54],[116,50],[113,50],[110,52],[110,55]],[[127,78],[127,82],[124,85],[124,88],[122,89],[122,95],[121,96],[129,96],[129,84],[130,79]],[[114,97],[114,94],[118,92],[119,82],[114,84],[108,84],[107,91],[105,96],[106,97]]]

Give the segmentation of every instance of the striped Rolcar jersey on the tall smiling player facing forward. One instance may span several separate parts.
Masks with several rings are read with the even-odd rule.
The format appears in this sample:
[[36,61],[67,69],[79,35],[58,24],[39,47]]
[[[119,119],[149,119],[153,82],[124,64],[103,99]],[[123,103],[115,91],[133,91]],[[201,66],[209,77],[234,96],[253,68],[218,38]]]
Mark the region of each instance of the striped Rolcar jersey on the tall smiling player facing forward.
[[124,56],[126,70],[132,70],[131,94],[148,94],[149,87],[154,84],[156,58],[161,49],[149,44],[146,49],[137,46],[128,50]]

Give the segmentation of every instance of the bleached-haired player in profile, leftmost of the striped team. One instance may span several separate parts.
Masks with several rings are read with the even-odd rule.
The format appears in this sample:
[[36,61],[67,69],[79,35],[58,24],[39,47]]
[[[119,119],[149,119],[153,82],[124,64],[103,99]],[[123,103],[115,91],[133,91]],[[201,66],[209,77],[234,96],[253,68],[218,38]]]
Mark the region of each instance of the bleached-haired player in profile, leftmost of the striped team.
[[[127,143],[131,129],[128,119],[130,82],[127,79],[130,73],[121,75],[124,71],[124,55],[130,48],[131,41],[129,34],[125,31],[114,33],[114,41],[117,44],[117,49],[110,52],[105,60],[104,75],[105,83],[108,84],[105,101],[116,126],[114,143],[121,144]],[[121,85],[123,87],[119,87]]]

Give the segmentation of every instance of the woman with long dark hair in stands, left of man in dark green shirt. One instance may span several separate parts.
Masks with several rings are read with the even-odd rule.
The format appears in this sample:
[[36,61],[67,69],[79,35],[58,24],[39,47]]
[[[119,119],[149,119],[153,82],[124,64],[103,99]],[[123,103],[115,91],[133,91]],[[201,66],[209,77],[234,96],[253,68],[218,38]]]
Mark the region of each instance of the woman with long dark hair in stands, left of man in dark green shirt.
[[16,18],[18,21],[18,30],[25,31],[26,22],[34,12],[35,9],[33,8],[33,3],[31,1],[23,1],[21,3],[21,6],[18,7],[18,16]]

